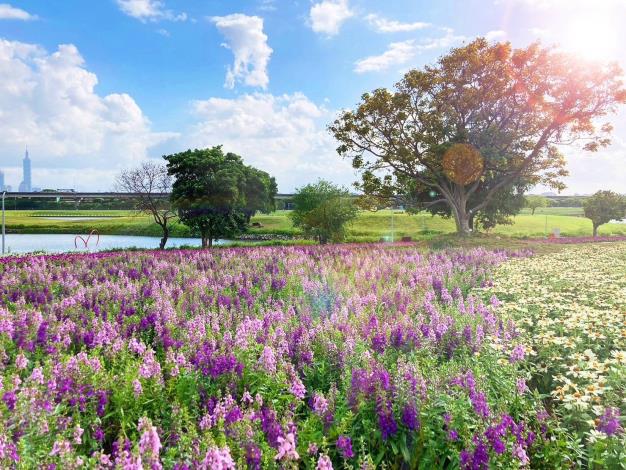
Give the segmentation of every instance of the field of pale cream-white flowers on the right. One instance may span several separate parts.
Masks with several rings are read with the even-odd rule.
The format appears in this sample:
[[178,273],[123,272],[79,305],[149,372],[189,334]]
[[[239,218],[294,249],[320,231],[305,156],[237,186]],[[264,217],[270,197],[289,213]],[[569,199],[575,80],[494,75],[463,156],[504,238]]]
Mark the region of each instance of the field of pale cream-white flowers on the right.
[[504,302],[526,345],[529,385],[582,439],[588,465],[626,467],[626,243],[502,264],[484,292]]

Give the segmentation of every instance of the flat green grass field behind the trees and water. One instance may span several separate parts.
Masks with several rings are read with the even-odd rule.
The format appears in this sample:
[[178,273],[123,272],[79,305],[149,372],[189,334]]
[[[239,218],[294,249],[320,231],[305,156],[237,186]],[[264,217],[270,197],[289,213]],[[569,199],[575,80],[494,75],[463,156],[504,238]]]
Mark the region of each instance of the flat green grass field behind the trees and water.
[[[53,220],[48,217],[106,217],[94,220]],[[496,227],[492,233],[514,238],[543,237],[558,228],[563,236],[590,236],[591,221],[582,217],[582,209],[553,207],[538,209],[535,215],[524,210],[515,217],[513,225]],[[262,226],[251,228],[251,233],[298,236],[287,211],[259,214],[253,218]],[[150,217],[132,211],[7,211],[6,226],[9,233],[88,233],[92,229],[109,235],[160,235],[159,227]],[[428,240],[454,232],[454,222],[422,213],[408,215],[402,211],[383,210],[361,212],[348,230],[347,241],[378,241],[383,237],[398,240],[412,237]],[[172,225],[171,236],[191,236],[189,229],[180,223]],[[600,235],[626,235],[626,224],[611,223],[600,227]]]

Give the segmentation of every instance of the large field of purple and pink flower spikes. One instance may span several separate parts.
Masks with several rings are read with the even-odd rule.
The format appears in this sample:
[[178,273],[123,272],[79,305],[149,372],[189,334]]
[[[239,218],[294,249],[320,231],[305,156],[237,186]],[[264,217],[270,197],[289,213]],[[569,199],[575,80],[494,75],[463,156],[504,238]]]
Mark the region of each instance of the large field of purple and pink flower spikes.
[[573,466],[567,433],[525,383],[522,330],[497,299],[468,294],[525,255],[344,245],[5,259],[0,466]]

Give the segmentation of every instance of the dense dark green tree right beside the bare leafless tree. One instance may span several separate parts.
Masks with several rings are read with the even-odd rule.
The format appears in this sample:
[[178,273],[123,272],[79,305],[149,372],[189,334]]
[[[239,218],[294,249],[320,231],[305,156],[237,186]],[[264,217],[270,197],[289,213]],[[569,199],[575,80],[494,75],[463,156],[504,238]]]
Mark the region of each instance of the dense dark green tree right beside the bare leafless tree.
[[221,146],[166,155],[175,178],[172,202],[180,220],[202,238],[202,247],[218,238],[245,231],[256,211],[274,205],[274,178],[243,163],[239,155]]

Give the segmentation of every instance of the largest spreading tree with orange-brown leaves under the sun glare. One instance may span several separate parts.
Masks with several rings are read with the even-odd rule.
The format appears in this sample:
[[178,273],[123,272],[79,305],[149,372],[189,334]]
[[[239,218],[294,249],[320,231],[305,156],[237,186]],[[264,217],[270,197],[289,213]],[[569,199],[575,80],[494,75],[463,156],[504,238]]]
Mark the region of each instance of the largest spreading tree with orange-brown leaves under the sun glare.
[[409,71],[394,91],[364,94],[330,130],[361,170],[364,192],[410,184],[430,196],[425,207],[445,204],[467,234],[476,214],[515,185],[563,188],[560,146],[609,144],[610,125],[597,121],[626,102],[621,76],[616,64],[538,43],[514,50],[479,38]]

